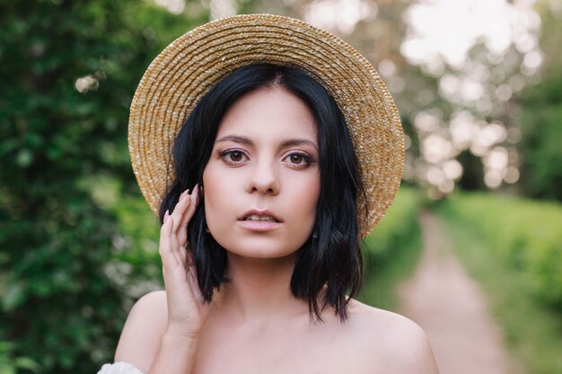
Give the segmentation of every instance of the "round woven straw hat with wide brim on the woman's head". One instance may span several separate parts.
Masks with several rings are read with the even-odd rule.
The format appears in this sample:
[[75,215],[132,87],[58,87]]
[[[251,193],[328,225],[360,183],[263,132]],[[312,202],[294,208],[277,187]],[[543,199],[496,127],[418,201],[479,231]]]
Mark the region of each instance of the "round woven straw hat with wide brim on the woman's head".
[[312,74],[338,103],[361,165],[373,230],[400,185],[404,146],[400,116],[373,66],[325,30],[271,14],[208,22],[171,42],[148,66],[131,104],[128,142],[133,170],[154,213],[173,173],[171,147],[209,88],[244,65],[294,65]]

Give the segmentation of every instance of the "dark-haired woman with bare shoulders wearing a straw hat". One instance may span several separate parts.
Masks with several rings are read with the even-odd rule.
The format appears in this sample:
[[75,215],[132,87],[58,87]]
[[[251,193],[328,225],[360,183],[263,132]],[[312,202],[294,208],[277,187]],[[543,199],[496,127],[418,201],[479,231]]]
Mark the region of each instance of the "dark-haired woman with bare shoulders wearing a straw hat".
[[352,299],[401,136],[373,67],[304,22],[236,16],[174,41],[129,124],[165,291],[137,301],[101,373],[436,373],[416,324]]

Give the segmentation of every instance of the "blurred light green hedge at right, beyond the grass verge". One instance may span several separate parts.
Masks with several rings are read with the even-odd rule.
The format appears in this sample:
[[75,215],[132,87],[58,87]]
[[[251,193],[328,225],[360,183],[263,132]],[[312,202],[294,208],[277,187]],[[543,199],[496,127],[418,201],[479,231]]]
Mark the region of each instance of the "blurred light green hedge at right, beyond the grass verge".
[[536,297],[562,313],[562,206],[484,194],[455,196],[445,209],[505,265],[525,274]]

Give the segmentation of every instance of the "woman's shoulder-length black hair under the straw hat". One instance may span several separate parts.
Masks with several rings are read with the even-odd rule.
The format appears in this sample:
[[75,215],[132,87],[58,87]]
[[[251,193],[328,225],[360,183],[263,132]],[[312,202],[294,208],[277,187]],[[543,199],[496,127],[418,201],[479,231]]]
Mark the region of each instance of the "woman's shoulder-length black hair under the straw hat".
[[[366,217],[366,213],[356,211],[356,200],[364,199],[364,192],[343,114],[324,86],[302,69],[247,65],[226,75],[199,100],[173,147],[175,181],[163,196],[160,219],[166,210],[173,210],[182,191],[201,186],[226,110],[250,91],[277,86],[294,93],[311,109],[318,126],[320,152],[321,183],[314,235],[298,251],[291,291],[295,297],[308,300],[311,317],[315,315],[321,320],[321,310],[329,305],[343,322],[347,318],[347,302],[359,291],[363,279],[359,219]],[[188,237],[198,269],[199,287],[208,302],[214,289],[228,282],[224,275],[227,257],[225,249],[206,232],[205,208],[201,202],[189,222]],[[319,305],[324,286],[324,298]]]

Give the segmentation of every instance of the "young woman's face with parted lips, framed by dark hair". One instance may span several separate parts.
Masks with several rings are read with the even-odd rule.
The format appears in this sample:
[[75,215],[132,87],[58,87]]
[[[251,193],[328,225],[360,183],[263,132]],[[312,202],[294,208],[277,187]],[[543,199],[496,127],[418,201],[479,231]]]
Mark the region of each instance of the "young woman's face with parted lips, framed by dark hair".
[[226,112],[203,173],[206,224],[242,257],[293,254],[312,233],[320,191],[317,128],[284,88],[260,88]]

